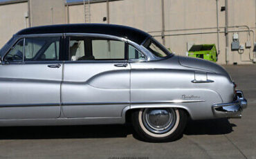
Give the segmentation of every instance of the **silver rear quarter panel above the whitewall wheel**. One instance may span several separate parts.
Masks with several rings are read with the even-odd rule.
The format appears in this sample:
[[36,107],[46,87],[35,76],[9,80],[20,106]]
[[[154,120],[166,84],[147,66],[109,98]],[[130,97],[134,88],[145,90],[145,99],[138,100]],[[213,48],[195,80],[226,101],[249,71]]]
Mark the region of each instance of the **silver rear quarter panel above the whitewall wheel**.
[[[221,91],[230,84],[215,73],[208,75],[214,82],[195,84],[191,82],[195,77],[192,69],[172,68],[172,64],[169,68],[143,65],[131,64],[131,109],[178,107],[187,110],[194,120],[214,118],[212,105],[223,102]],[[221,82],[222,88],[217,86]],[[224,100],[230,100],[230,95],[223,95]]]

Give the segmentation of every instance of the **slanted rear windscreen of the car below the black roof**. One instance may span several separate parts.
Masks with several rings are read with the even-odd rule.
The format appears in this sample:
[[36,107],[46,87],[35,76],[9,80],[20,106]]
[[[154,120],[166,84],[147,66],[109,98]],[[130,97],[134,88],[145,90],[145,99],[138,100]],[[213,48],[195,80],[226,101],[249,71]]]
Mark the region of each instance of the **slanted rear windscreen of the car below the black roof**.
[[167,57],[172,54],[169,52],[169,50],[165,48],[165,46],[163,46],[158,41],[156,41],[156,39],[153,38],[147,39],[143,46],[145,46],[145,48],[147,48],[147,50],[153,53],[156,57]]

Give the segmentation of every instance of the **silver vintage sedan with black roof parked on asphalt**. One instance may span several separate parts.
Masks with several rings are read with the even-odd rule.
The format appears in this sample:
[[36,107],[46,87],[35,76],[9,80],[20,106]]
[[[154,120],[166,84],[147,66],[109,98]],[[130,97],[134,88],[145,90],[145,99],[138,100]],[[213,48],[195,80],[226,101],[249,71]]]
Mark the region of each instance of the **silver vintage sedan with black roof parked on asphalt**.
[[247,106],[221,66],[176,56],[127,26],[26,28],[0,56],[2,127],[131,121],[143,140],[166,142],[188,118],[240,118]]

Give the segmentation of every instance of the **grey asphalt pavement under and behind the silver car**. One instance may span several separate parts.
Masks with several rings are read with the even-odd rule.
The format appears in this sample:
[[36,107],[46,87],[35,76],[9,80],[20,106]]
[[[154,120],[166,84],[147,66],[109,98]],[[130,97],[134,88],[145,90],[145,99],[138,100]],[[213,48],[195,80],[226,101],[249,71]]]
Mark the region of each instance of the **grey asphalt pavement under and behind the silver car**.
[[190,121],[179,140],[148,143],[130,125],[0,127],[0,158],[256,159],[256,66],[224,66],[244,91],[241,119]]

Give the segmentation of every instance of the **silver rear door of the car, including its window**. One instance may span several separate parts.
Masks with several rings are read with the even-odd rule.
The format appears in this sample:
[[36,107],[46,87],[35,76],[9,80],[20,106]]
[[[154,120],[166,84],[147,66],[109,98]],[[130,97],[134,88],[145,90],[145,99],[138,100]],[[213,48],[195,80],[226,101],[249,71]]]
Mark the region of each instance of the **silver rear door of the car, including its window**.
[[66,118],[118,118],[130,102],[125,41],[66,37],[62,111]]

